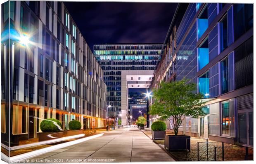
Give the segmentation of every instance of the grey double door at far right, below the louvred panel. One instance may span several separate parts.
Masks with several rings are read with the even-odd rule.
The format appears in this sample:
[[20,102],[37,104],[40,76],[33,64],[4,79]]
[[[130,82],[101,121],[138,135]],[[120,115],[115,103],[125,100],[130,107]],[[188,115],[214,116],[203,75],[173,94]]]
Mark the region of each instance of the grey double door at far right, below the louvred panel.
[[238,111],[238,142],[243,146],[253,146],[253,111]]

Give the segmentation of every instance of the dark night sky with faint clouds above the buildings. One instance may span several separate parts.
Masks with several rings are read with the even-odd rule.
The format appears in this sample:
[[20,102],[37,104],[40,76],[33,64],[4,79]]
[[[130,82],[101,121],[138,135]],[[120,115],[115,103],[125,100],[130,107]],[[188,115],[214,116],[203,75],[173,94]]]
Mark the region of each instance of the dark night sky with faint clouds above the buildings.
[[163,43],[177,3],[64,2],[90,49],[105,43]]

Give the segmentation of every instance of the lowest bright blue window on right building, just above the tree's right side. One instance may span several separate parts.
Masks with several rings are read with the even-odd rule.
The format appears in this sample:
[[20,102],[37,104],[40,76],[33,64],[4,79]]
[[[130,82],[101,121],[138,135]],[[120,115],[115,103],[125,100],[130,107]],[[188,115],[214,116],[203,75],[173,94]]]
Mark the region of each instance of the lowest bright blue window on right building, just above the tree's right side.
[[209,72],[206,72],[198,78],[199,93],[204,95],[204,98],[209,98]]

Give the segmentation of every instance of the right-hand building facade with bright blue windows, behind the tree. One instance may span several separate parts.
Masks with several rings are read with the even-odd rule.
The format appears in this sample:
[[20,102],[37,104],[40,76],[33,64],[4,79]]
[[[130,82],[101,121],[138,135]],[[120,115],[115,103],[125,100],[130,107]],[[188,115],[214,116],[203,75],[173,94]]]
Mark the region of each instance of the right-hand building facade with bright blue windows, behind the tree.
[[151,87],[190,79],[206,101],[180,133],[253,146],[253,5],[180,4],[164,44]]

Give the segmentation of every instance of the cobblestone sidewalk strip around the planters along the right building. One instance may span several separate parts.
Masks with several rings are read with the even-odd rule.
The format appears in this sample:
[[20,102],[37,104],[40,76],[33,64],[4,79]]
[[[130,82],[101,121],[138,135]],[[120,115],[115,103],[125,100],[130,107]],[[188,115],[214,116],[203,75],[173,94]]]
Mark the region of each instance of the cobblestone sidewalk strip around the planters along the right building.
[[[171,133],[169,130],[166,130],[166,133]],[[147,136],[152,138],[152,133],[150,128],[146,128],[144,131]],[[211,140],[208,140],[211,142]],[[159,144],[159,146],[162,146],[164,148],[164,139],[155,140],[156,143]],[[178,151],[178,152],[170,152],[173,157],[178,159],[179,161],[197,161],[197,142],[206,142],[205,139],[198,138],[198,137],[191,137],[191,150],[187,153],[185,151]],[[208,161],[214,160],[214,146],[221,146],[222,143],[209,143],[208,144]],[[233,146],[228,143],[224,143],[224,146]],[[206,143],[199,143],[199,161],[207,161],[207,153],[206,153]],[[248,160],[253,160],[253,149],[249,148],[249,157]],[[222,160],[222,149],[218,148],[217,150],[217,161]],[[224,148],[224,160],[225,161],[238,161],[238,160],[244,160],[245,157],[245,148],[241,147],[232,147],[232,148]]]

